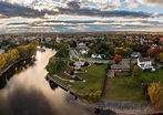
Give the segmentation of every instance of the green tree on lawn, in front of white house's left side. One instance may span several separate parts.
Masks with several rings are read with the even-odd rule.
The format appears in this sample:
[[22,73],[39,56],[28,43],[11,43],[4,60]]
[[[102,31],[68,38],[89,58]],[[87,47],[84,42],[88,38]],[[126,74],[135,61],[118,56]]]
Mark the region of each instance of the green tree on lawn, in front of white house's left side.
[[143,71],[142,71],[142,69],[140,66],[135,66],[133,69],[131,76],[132,76],[134,83],[140,84],[142,82],[141,81],[142,73],[143,73]]

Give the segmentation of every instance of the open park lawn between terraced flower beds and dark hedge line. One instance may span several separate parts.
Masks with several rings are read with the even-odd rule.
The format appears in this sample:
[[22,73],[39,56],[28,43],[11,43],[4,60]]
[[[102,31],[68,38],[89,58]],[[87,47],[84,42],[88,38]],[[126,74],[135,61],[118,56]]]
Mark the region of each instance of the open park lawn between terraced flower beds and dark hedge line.
[[105,76],[105,67],[106,64],[92,64],[90,67],[85,69],[88,73],[77,74],[78,76],[85,80],[85,82],[74,83],[72,84],[72,87],[81,93],[89,93],[101,90]]

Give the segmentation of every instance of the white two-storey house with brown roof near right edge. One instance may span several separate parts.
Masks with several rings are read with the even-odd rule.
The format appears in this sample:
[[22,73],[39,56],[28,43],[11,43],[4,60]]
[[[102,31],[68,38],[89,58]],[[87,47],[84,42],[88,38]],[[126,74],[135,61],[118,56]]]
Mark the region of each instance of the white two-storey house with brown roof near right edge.
[[137,66],[140,66],[142,70],[150,69],[151,71],[155,71],[155,69],[152,66],[151,58],[139,58],[137,59]]

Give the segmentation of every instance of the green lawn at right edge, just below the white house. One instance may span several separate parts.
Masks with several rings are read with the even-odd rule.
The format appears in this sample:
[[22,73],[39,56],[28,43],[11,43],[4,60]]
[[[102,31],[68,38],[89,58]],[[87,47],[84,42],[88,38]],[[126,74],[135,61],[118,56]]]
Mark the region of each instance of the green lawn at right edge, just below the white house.
[[152,77],[163,83],[163,69],[156,70],[155,72],[143,72],[142,77],[145,83],[150,83]]

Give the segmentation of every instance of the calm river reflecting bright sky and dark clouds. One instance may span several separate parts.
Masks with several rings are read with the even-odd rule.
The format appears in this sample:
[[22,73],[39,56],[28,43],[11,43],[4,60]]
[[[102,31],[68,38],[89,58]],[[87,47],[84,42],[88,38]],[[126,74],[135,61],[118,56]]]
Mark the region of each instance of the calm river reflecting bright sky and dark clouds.
[[0,115],[94,115],[94,108],[61,88],[51,90],[44,76],[55,51],[37,52],[34,65],[16,73],[0,90]]

